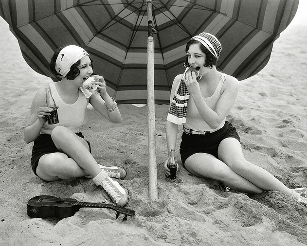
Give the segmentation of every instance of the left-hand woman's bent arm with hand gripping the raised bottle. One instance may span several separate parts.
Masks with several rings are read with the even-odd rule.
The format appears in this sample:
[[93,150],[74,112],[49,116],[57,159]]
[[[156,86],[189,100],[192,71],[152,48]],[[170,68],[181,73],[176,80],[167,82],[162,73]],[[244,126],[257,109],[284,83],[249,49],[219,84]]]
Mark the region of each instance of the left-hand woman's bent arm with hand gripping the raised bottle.
[[38,137],[43,124],[46,123],[46,116],[50,115],[52,109],[45,106],[45,88],[37,91],[31,105],[30,116],[23,130],[23,139],[30,143]]

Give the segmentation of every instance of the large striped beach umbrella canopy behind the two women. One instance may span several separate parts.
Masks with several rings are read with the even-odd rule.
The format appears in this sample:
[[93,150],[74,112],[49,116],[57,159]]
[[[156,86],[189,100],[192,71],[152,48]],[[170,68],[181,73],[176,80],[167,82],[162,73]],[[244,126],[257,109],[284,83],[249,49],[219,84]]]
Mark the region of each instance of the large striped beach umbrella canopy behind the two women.
[[[183,72],[185,44],[200,32],[216,35],[217,69],[246,79],[269,61],[274,40],[294,17],[298,0],[151,0],[155,103],[168,104]],[[117,103],[147,101],[145,0],[1,0],[0,16],[18,38],[26,62],[51,77],[54,51],[76,44],[90,53]]]

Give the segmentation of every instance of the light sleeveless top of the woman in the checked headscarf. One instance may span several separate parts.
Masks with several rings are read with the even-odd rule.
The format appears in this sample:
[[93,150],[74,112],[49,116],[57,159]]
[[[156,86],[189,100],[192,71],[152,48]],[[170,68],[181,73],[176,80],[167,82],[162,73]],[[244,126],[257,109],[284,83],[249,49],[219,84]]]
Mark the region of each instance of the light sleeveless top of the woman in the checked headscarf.
[[[203,100],[211,108],[215,109],[217,102],[221,96],[221,89],[223,87],[224,81],[226,80],[227,74],[223,73],[221,80],[219,81],[217,88],[210,97],[203,97]],[[194,131],[216,131],[222,128],[225,124],[226,118],[220,123],[216,129],[212,129],[200,116],[199,111],[194,103],[193,98],[190,96],[188,101],[188,108],[186,114],[186,123],[184,127],[188,129],[193,129]]]

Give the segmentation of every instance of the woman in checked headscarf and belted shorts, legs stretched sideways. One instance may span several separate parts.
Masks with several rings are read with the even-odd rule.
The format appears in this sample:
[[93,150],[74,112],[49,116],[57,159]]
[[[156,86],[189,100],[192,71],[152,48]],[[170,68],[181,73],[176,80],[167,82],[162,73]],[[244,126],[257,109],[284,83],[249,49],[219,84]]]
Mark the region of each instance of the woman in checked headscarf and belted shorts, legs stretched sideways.
[[[291,190],[244,158],[239,135],[226,121],[239,82],[217,71],[216,62],[222,51],[217,38],[208,33],[196,35],[187,43],[185,51],[187,69],[175,77],[171,90],[166,122],[168,153],[175,150],[178,125],[183,124],[180,155],[183,166],[191,174],[217,179],[240,192],[280,191],[307,205],[307,198],[300,195],[306,189]],[[167,160],[164,173],[170,175]]]

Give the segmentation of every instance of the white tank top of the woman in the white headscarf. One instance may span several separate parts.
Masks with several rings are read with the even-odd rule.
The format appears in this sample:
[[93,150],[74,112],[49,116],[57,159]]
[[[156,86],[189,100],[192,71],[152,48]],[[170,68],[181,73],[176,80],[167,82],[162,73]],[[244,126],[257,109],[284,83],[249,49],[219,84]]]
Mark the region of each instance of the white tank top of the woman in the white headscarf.
[[59,123],[48,124],[47,122],[43,125],[40,133],[41,134],[51,134],[52,130],[57,125],[62,125],[72,130],[73,133],[77,133],[80,130],[83,122],[85,121],[86,108],[88,101],[79,89],[79,97],[77,101],[73,104],[66,104],[60,98],[54,83],[50,83],[51,93],[54,98],[55,104],[58,106],[57,114],[59,118]]

